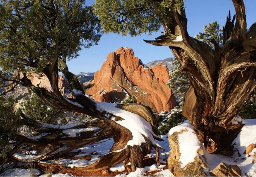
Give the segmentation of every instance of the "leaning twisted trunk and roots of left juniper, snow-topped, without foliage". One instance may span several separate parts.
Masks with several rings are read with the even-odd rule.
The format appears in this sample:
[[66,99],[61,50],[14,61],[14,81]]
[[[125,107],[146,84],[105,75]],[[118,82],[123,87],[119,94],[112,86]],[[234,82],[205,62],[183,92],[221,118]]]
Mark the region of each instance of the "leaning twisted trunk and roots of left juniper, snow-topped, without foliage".
[[[65,98],[58,88],[58,69],[66,76],[73,90],[73,99]],[[19,83],[30,88],[38,96],[41,96],[52,107],[84,113],[97,119],[88,120],[84,123],[72,125],[50,125],[37,122],[29,116],[21,113],[22,119],[18,121],[20,125],[27,125],[37,132],[38,136],[15,135],[18,144],[9,154],[9,159],[25,162],[35,162],[38,160],[54,160],[65,157],[68,152],[84,145],[90,145],[103,139],[113,138],[114,143],[110,152],[102,156],[97,162],[84,167],[87,171],[99,171],[110,168],[121,162],[128,164],[131,162],[132,171],[136,167],[143,167],[143,158],[156,149],[159,154],[160,145],[155,139],[160,139],[157,128],[154,124],[151,110],[141,104],[111,104],[100,103],[88,98],[84,90],[73,73],[70,73],[64,58],[58,55],[58,45],[55,48],[55,58],[43,70],[43,74],[49,79],[52,91],[48,91],[39,86],[35,86],[27,77],[22,74]],[[134,126],[136,125],[136,126]],[[70,131],[75,135],[70,135]],[[19,158],[20,154],[15,153],[22,145],[38,145],[37,156],[28,159]],[[52,145],[53,150],[43,153],[44,149]],[[157,156],[159,158],[159,156]],[[157,159],[159,164],[159,159]],[[40,163],[40,162],[38,162]]]

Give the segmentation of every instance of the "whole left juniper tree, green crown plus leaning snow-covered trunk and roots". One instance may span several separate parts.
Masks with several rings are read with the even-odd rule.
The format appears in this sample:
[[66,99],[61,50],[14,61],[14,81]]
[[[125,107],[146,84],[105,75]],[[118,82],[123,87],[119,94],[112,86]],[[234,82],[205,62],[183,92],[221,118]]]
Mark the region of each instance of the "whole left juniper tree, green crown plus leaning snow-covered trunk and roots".
[[[67,67],[67,60],[76,58],[82,47],[97,44],[102,35],[99,19],[92,10],[91,6],[85,5],[84,0],[1,1],[1,81],[12,83],[12,88],[17,84],[29,88],[56,109],[98,118],[60,126],[36,121],[21,112],[22,119],[17,124],[34,128],[40,134],[31,137],[15,133],[14,136],[20,141],[6,156],[6,160],[12,159],[13,154],[26,144],[37,145],[37,153],[41,154],[29,159],[29,162],[33,162],[59,159],[73,149],[113,138],[110,152],[83,170],[101,171],[125,161],[127,168],[135,171],[137,167],[143,167],[143,159],[152,148],[156,149],[156,161],[160,165],[159,149],[163,148],[155,139],[162,139],[157,136],[151,110],[141,104],[95,102],[85,95],[76,75]],[[61,95],[58,88],[59,71],[70,84],[72,98]],[[45,75],[51,89],[33,85],[30,73]],[[77,132],[76,137],[64,133],[70,131]],[[47,146],[54,148],[52,150]],[[16,160],[24,160],[19,157],[15,157]],[[6,160],[1,161],[2,165]],[[46,165],[41,164],[43,168],[47,168]]]

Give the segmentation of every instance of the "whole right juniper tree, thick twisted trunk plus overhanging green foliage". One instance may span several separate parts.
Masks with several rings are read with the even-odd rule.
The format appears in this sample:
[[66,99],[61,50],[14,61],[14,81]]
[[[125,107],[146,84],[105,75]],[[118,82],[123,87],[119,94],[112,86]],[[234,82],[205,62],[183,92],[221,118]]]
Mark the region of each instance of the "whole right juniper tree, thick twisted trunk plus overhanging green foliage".
[[[183,0],[96,0],[94,11],[105,32],[163,35],[148,44],[169,46],[189,78],[183,116],[210,153],[229,154],[241,123],[231,122],[256,87],[256,28],[247,31],[243,0],[232,0],[236,15],[212,45],[189,36]],[[235,22],[236,20],[236,22]],[[234,24],[235,22],[235,24]]]

